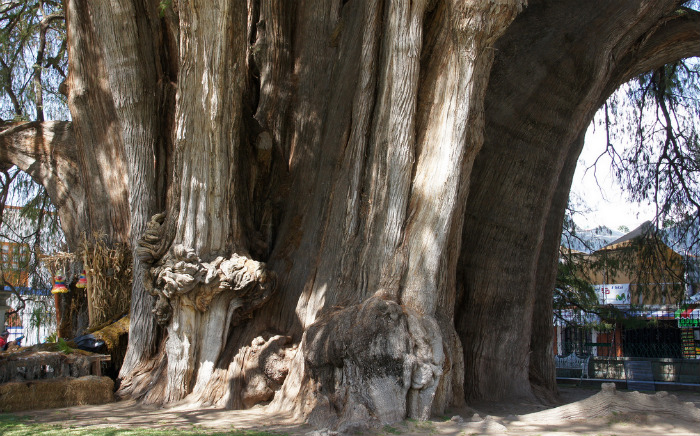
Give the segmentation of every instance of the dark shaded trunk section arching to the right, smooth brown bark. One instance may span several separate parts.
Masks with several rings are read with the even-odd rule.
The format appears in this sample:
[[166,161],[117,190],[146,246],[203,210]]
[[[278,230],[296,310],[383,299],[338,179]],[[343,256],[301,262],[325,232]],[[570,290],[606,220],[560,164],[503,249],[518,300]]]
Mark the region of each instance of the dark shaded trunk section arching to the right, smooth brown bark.
[[[547,340],[531,338],[547,335],[533,322],[551,318],[544,304],[551,296],[538,289],[553,289],[554,240],[566,206],[561,191],[570,188],[577,138],[629,79],[616,60],[629,71],[630,57],[642,51],[654,53],[659,64],[677,59],[679,52],[662,48],[687,36],[685,25],[679,34],[655,39],[662,33],[659,23],[677,7],[674,1],[530,2],[496,44],[486,138],[472,172],[460,261],[464,294],[457,331],[467,398],[532,397],[531,376],[546,375],[545,385],[554,387],[548,365],[531,360],[551,360],[543,348]],[[544,35],[543,22],[551,23]],[[646,46],[652,39],[653,47]]]

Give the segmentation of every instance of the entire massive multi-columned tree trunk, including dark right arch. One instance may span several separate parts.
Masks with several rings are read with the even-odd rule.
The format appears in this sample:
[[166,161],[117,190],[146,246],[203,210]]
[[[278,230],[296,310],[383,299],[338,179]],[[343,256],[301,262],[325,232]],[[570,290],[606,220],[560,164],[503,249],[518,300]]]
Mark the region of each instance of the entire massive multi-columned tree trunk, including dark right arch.
[[[552,398],[556,247],[583,130],[622,81],[697,50],[695,14],[150,3],[67,2],[75,168],[59,175],[76,181],[49,190],[62,213],[65,192],[107,204],[64,209],[142,262],[122,395],[272,401],[341,429]],[[24,162],[45,138],[0,158]],[[38,168],[55,156],[20,167],[49,184]]]

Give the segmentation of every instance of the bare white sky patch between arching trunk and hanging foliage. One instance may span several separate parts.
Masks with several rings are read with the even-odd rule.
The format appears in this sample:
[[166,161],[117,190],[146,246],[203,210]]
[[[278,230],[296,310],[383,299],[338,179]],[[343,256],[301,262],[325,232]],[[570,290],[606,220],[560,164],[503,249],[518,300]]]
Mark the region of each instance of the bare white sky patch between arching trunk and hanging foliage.
[[607,155],[600,158],[595,169],[589,169],[605,150],[605,142],[604,128],[591,123],[571,186],[572,194],[585,202],[588,210],[575,215],[574,222],[583,229],[604,225],[613,230],[620,226],[634,230],[644,221],[653,219],[654,207],[627,201],[612,174]]

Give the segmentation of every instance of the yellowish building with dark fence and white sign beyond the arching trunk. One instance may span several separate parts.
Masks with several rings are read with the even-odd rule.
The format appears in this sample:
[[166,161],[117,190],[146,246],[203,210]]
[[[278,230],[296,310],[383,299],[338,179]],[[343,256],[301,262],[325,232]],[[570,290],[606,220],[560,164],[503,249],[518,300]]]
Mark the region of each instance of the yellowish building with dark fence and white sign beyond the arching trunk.
[[697,258],[664,235],[647,222],[589,253],[568,251],[563,261],[577,263],[596,301],[555,313],[557,354],[700,359]]

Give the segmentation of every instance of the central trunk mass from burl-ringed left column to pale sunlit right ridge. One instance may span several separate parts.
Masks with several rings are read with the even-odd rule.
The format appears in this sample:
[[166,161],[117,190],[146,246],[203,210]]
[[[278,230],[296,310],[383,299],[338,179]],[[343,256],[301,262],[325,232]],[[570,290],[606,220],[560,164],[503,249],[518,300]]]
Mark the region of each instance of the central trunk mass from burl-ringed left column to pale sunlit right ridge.
[[[453,380],[462,380],[452,326],[459,240],[450,236],[459,234],[481,144],[493,56],[486,47],[520,5],[338,6],[265,4],[247,34],[239,3],[196,15],[178,5],[187,41],[178,86],[188,92],[176,107],[181,182],[168,215],[177,219],[154,221],[141,252],[168,326],[167,361],[157,388],[132,395],[231,405],[267,399],[269,377],[242,371],[240,353],[260,343],[257,336],[264,343],[282,332],[300,343],[296,357],[285,353],[294,360],[280,407],[303,405],[319,422],[338,411],[350,425],[426,418],[454,402]],[[246,80],[249,40],[259,97]],[[298,103],[277,120],[284,113],[268,102],[284,105],[287,95]],[[252,97],[257,123],[246,126]],[[288,124],[275,128],[280,123]],[[280,189],[295,195],[275,198]],[[171,225],[174,238],[153,247]],[[278,229],[274,239],[265,226]],[[270,253],[268,267],[250,260],[256,249]],[[368,338],[378,342],[363,351]]]

